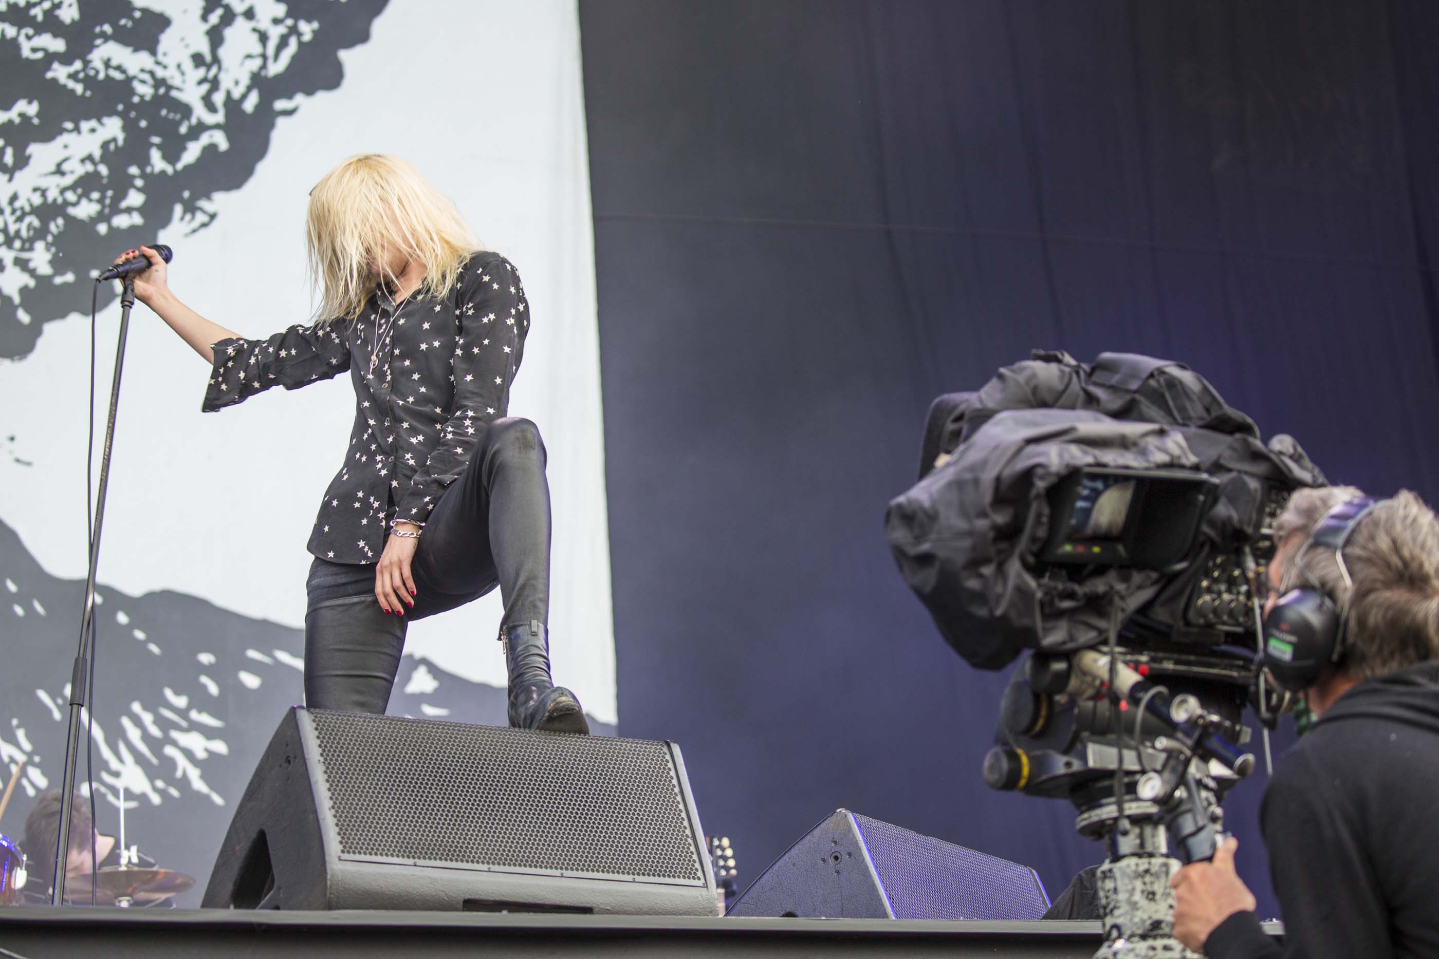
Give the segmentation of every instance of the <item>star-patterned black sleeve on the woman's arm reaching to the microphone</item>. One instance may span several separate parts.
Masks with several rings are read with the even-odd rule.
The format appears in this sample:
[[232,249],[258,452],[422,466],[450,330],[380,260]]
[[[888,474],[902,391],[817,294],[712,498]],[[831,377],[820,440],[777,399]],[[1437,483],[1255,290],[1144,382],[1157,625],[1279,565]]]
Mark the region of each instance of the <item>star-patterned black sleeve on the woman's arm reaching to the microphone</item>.
[[210,348],[214,367],[201,410],[213,413],[273,385],[298,390],[350,368],[350,348],[334,328],[291,326],[268,339],[222,339]]

